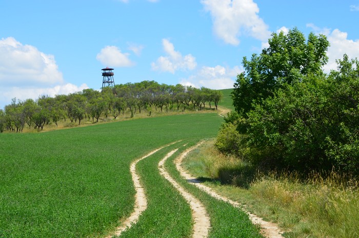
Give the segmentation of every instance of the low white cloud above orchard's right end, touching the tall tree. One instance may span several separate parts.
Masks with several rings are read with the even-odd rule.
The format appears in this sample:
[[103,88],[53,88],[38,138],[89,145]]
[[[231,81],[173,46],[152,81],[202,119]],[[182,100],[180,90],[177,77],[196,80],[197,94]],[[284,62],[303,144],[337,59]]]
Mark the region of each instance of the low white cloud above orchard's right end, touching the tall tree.
[[206,87],[211,89],[233,88],[237,74],[243,72],[241,67],[225,68],[203,66],[195,75],[183,79],[180,84],[196,88]]

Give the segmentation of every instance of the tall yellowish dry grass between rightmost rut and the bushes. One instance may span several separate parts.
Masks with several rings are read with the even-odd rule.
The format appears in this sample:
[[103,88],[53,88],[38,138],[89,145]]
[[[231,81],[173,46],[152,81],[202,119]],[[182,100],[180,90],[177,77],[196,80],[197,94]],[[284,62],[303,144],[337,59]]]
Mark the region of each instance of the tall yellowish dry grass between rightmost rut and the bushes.
[[216,152],[213,142],[184,164],[195,176],[207,178],[205,184],[218,193],[278,223],[287,230],[285,237],[359,237],[358,181],[345,182],[336,173],[327,178],[312,174],[306,181],[295,173],[244,176],[247,165]]

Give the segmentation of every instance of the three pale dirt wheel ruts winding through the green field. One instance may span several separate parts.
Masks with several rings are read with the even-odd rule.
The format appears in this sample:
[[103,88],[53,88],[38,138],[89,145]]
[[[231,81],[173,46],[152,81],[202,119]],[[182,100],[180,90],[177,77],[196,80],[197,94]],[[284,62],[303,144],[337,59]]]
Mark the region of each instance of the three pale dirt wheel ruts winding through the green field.
[[[174,143],[173,143],[174,144]],[[194,147],[191,147],[189,149],[187,149],[185,152],[183,152],[181,155],[179,155],[175,160],[175,165],[177,170],[181,173],[181,175],[189,182],[189,183],[193,183],[195,186],[197,186],[198,188],[204,190],[205,192],[207,192],[208,194],[210,194],[211,196],[215,197],[218,200],[223,200],[225,202],[228,202],[230,204],[232,204],[235,207],[239,207],[242,208],[241,204],[234,202],[232,200],[229,200],[226,197],[223,197],[219,194],[217,194],[216,192],[214,192],[211,188],[199,183],[200,181],[196,180],[195,177],[191,176],[182,166],[182,160],[184,157],[187,156],[187,154],[192,151],[193,149],[197,148],[198,146],[200,146],[202,143],[197,144]],[[165,147],[165,146],[164,146]],[[146,195],[145,195],[145,190],[142,187],[141,183],[140,183],[140,177],[139,175],[136,173],[136,164],[143,160],[144,158],[156,153],[157,151],[161,150],[162,148],[158,148],[155,149],[153,151],[151,151],[150,153],[146,154],[145,156],[138,158],[137,160],[133,161],[130,165],[130,172],[132,175],[132,181],[136,190],[136,194],[135,194],[135,205],[134,205],[134,211],[131,213],[131,215],[123,222],[122,226],[119,226],[116,228],[115,232],[109,234],[108,236],[106,236],[106,238],[111,238],[112,236],[116,235],[120,235],[124,230],[129,229],[131,227],[132,224],[135,224],[138,220],[138,217],[141,215],[141,213],[143,211],[145,211],[147,209],[147,199],[146,199]],[[197,237],[207,237],[208,236],[208,232],[209,229],[211,227],[210,224],[210,218],[209,215],[206,212],[205,207],[203,206],[203,204],[196,199],[196,197],[194,197],[192,194],[190,194],[189,192],[187,192],[183,187],[181,187],[175,180],[173,180],[173,178],[170,176],[170,174],[166,171],[166,169],[164,168],[164,164],[167,160],[167,158],[169,158],[170,156],[172,156],[178,149],[172,150],[171,152],[169,152],[159,163],[158,163],[158,170],[159,173],[164,176],[178,191],[179,193],[181,193],[184,198],[186,199],[186,201],[189,203],[191,210],[192,210],[192,217],[193,217],[193,237],[197,238]],[[243,209],[243,208],[242,208]],[[247,212],[247,211],[245,211]],[[249,218],[251,219],[252,223],[254,224],[259,224],[261,226],[261,233],[265,236],[265,237],[270,237],[270,238],[280,238],[283,237],[282,236],[282,231],[280,230],[280,228],[278,228],[278,226],[276,224],[270,223],[270,222],[266,222],[263,221],[263,219],[261,219],[261,217],[258,217],[252,213],[247,212],[247,214],[249,215]]]

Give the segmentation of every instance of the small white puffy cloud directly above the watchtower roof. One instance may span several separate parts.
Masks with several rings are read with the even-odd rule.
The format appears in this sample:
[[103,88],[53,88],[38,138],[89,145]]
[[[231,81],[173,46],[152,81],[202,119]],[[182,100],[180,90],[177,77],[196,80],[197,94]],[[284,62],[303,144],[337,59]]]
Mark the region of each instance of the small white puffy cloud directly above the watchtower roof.
[[96,60],[104,66],[130,67],[134,63],[128,58],[129,53],[122,53],[116,46],[106,46],[96,55]]

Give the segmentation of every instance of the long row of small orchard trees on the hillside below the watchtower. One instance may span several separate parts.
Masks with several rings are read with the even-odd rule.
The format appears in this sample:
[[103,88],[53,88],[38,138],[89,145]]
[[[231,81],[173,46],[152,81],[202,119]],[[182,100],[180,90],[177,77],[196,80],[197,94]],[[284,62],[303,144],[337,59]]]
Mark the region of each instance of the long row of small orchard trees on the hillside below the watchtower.
[[4,130],[22,132],[29,128],[43,129],[47,124],[70,120],[78,124],[82,120],[96,120],[102,116],[116,118],[126,111],[131,117],[138,111],[202,110],[206,104],[217,109],[222,93],[208,88],[194,88],[177,84],[158,84],[154,81],[115,85],[101,92],[84,89],[82,92],[55,97],[41,96],[36,101],[16,101],[14,98],[5,110],[0,110],[0,132]]

